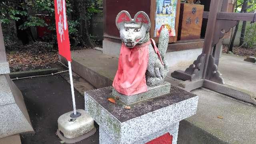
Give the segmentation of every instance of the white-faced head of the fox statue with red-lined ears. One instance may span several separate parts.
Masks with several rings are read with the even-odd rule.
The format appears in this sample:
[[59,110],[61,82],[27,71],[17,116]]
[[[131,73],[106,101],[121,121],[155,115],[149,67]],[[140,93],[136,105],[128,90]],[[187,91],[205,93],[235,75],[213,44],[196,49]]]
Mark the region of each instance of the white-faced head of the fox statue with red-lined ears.
[[137,12],[132,19],[127,11],[122,11],[116,17],[116,26],[120,31],[120,38],[128,48],[148,40],[150,20],[145,12]]

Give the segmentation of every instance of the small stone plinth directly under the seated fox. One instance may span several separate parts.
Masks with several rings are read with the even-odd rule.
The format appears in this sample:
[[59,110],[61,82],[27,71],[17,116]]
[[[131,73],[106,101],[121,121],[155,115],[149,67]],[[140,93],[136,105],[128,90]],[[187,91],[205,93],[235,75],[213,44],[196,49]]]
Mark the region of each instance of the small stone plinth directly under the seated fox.
[[163,84],[160,84],[159,86],[155,86],[155,87],[148,86],[147,92],[142,92],[140,94],[134,94],[132,96],[126,96],[124,94],[120,94],[113,88],[112,95],[118,96],[120,98],[120,100],[122,100],[126,104],[131,104],[133,102],[138,102],[140,100],[145,100],[145,99],[159,96],[162,94],[167,94],[170,92],[170,86],[171,86],[171,84],[169,82],[164,82]]

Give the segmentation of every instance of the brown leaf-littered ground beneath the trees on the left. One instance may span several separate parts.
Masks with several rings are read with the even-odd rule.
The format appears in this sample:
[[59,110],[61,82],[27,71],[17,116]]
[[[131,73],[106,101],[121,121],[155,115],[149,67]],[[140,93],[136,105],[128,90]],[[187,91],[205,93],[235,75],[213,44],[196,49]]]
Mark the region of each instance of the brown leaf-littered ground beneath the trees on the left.
[[[18,45],[16,42],[5,42],[6,55],[11,72],[33,69],[52,68],[58,62],[58,48],[48,42],[34,42]],[[86,47],[70,48],[71,50],[87,49]]]

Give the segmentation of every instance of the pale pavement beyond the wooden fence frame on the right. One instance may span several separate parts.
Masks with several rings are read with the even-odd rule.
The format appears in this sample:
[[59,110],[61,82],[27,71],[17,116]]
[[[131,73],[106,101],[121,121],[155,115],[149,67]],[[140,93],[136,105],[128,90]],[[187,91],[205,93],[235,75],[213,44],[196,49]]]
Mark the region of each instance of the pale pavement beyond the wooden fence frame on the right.
[[[245,62],[245,57],[222,54],[218,70],[228,85],[250,91],[256,95],[256,65]],[[168,77],[174,70],[186,70],[190,64],[170,67]]]

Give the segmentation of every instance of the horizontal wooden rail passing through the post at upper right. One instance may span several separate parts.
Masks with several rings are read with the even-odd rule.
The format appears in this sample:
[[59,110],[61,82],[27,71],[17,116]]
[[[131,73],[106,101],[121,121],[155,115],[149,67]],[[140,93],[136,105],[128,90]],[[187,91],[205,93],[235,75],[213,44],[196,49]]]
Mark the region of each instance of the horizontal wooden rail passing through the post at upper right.
[[[209,18],[209,12],[203,13],[203,18]],[[218,12],[218,20],[242,20],[242,21],[252,21],[254,18],[254,13],[234,13],[234,12]],[[256,21],[256,18],[254,18]]]

